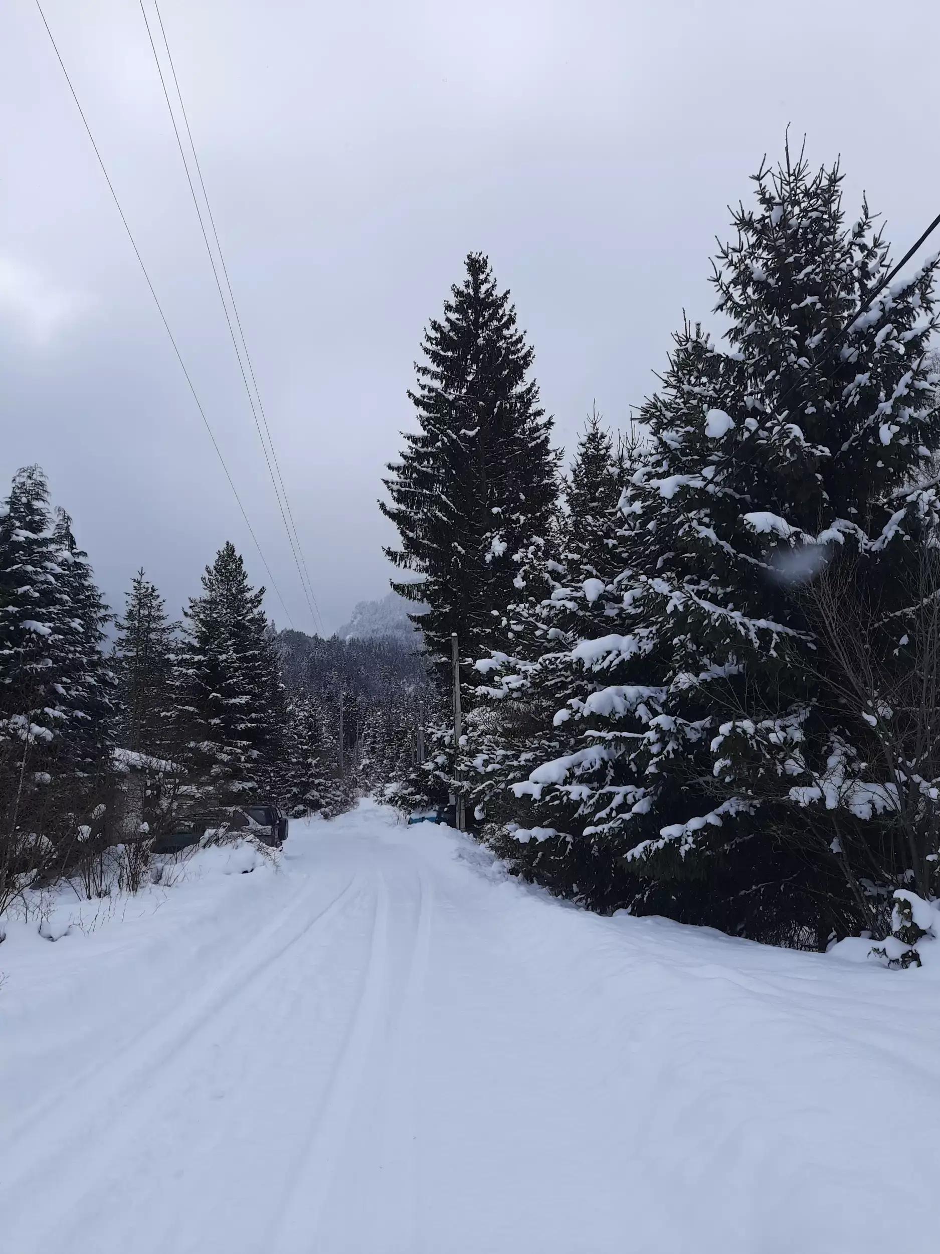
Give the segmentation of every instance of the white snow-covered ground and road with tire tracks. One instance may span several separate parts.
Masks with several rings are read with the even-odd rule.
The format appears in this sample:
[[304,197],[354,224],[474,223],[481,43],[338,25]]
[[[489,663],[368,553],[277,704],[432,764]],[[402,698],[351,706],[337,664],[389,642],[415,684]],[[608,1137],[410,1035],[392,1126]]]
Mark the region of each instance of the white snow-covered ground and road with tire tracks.
[[929,968],[597,918],[372,805],[80,923],[0,947],[3,1254],[936,1240]]

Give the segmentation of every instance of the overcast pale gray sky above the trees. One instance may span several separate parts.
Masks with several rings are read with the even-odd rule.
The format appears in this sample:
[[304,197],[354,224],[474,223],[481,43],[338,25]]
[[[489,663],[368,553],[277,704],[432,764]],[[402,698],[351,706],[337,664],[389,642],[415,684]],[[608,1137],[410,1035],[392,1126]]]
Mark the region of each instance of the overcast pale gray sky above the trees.
[[[145,0],[148,11],[152,0]],[[296,626],[310,630],[138,0],[44,0]],[[421,331],[489,253],[570,448],[653,386],[748,174],[806,132],[895,253],[940,208],[935,0],[162,0],[327,628],[382,596]],[[113,604],[264,572],[34,0],[0,6],[0,475],[39,461]],[[4,487],[5,492],[6,488]],[[273,596],[268,611],[285,614]]]

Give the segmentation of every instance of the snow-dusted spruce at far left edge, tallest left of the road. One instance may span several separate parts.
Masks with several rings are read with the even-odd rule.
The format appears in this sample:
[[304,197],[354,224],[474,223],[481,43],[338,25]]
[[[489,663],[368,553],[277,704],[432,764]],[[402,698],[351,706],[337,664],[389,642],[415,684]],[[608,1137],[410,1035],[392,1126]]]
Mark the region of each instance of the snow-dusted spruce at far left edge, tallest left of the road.
[[[0,879],[74,865],[79,825],[110,800],[113,677],[107,612],[39,466],[14,477],[0,519]],[[0,887],[0,897],[4,889]]]

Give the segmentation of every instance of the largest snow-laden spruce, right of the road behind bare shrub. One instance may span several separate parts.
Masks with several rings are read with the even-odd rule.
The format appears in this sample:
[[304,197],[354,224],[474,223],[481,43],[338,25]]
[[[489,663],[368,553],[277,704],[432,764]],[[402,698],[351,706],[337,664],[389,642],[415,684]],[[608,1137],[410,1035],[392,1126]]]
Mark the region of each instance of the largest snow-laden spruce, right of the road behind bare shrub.
[[686,327],[642,415],[623,611],[608,640],[573,651],[608,678],[569,701],[584,749],[523,788],[543,801],[578,790],[612,875],[625,855],[649,885],[634,908],[823,943],[867,922],[846,845],[865,844],[885,780],[867,722],[835,692],[802,581],[855,549],[880,602],[902,601],[891,551],[909,532],[891,494],[937,444],[924,365],[935,263],[894,283],[830,356],[886,246],[867,208],[845,226],[837,169],[787,159],[756,192],[716,267],[728,349]]

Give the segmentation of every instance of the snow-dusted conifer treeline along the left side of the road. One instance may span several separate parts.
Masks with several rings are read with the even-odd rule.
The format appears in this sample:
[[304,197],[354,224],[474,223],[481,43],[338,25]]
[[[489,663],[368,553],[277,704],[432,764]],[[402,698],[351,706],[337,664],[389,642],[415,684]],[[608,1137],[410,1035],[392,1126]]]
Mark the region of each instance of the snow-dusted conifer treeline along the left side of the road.
[[0,910],[64,875],[135,888],[154,839],[252,801],[337,814],[368,779],[361,745],[373,759],[377,727],[382,761],[396,732],[407,751],[420,660],[278,635],[263,591],[228,543],[179,622],[143,571],[113,618],[43,472],[14,477],[0,514]]

